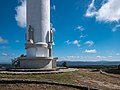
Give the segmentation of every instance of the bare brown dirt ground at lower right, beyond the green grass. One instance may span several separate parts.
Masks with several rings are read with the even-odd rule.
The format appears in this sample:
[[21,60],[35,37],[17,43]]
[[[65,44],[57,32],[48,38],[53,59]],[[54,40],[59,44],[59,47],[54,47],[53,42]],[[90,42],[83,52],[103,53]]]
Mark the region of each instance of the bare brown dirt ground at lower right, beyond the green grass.
[[[106,75],[102,75],[99,72],[91,72],[91,70],[80,69],[81,73],[87,74],[87,76],[79,77],[79,83],[84,83],[88,86],[99,87],[109,90],[120,90],[120,79]],[[119,76],[119,75],[117,75]]]

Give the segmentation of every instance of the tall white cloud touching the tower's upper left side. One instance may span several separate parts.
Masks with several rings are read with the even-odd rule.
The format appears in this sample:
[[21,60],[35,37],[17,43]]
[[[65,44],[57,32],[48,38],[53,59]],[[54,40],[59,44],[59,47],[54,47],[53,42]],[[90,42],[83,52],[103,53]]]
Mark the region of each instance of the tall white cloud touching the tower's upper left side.
[[26,0],[21,0],[21,5],[15,8],[17,14],[15,19],[18,25],[22,28],[26,27]]

